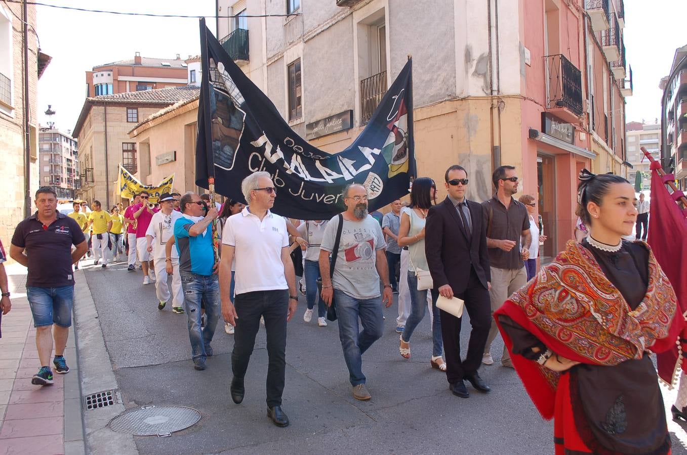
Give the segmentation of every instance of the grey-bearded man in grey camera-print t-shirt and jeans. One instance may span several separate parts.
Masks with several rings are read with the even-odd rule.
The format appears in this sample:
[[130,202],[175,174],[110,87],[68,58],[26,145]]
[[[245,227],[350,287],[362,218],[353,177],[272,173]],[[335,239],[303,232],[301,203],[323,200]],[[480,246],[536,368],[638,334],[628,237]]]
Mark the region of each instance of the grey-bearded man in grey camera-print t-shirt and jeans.
[[[334,296],[339,338],[348,366],[353,397],[370,399],[365,388],[362,355],[382,336],[382,304],[392,304],[392,287],[385,255],[386,243],[379,222],[368,214],[368,190],[359,183],[343,189],[347,210],[332,218],[322,236],[319,270],[322,299],[331,305]],[[330,279],[329,254],[334,250],[339,222],[343,222],[334,275]],[[384,285],[379,291],[379,281]],[[358,319],[363,325],[359,331]]]

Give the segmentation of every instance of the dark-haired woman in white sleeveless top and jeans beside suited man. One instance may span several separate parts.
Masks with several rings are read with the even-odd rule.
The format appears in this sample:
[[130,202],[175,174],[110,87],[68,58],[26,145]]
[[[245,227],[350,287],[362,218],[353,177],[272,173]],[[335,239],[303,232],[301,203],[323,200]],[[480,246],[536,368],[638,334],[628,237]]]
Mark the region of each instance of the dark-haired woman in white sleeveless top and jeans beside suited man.
[[[410,191],[410,206],[401,210],[401,228],[398,229],[398,245],[408,246],[408,288],[410,289],[410,316],[405,321],[405,329],[401,334],[401,345],[398,351],[403,358],[410,358],[410,337],[421,320],[425,317],[427,290],[418,290],[419,270],[429,271],[427,256],[425,256],[425,219],[427,211],[436,203],[436,185],[429,177],[416,178]],[[439,294],[431,290],[432,312],[432,356],[431,366],[440,371],[446,371],[446,363],[442,358],[441,318],[436,307]]]

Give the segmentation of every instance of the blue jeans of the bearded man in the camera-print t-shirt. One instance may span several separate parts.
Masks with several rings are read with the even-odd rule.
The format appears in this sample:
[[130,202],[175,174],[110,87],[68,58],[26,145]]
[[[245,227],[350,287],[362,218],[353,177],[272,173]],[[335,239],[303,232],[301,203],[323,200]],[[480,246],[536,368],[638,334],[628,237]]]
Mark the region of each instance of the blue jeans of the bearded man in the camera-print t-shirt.
[[[334,298],[339,316],[339,339],[343,358],[348,366],[350,384],[365,384],[362,355],[382,336],[382,298],[356,299],[337,289],[334,290]],[[358,318],[363,324],[361,332],[358,331]]]

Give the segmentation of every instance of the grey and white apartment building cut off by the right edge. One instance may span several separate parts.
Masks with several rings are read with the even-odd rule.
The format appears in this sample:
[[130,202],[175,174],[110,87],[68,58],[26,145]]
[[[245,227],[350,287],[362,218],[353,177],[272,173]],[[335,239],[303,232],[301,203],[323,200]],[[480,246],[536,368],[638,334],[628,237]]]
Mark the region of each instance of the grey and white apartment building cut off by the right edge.
[[671,72],[661,80],[661,149],[666,172],[687,191],[687,45],[675,50]]

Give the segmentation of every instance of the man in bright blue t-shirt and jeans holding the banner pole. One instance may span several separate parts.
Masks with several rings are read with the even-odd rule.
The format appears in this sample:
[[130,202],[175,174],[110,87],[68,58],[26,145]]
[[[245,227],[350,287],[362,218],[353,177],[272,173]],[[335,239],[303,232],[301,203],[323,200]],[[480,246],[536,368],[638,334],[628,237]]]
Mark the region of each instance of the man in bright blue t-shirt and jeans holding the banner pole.
[[[210,207],[205,214],[201,196],[186,193],[179,201],[181,217],[174,222],[174,237],[166,245],[165,261],[168,273],[172,265],[172,244],[179,251],[179,275],[183,289],[183,305],[188,316],[188,338],[191,341],[193,365],[205,369],[205,359],[212,356],[210,342],[219,317],[219,282],[217,279],[214,249],[212,248],[212,221],[217,209]],[[201,301],[205,305],[207,323],[201,330]]]

